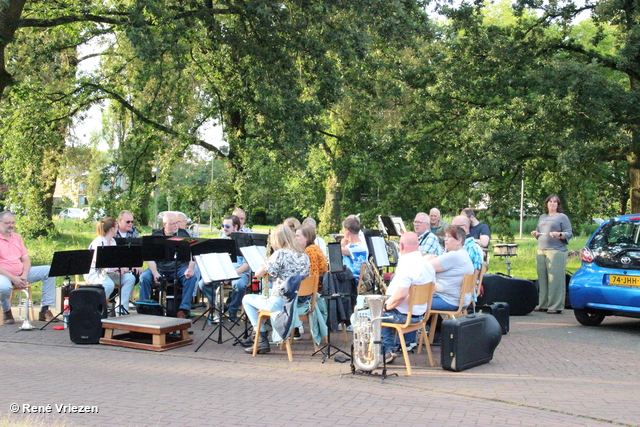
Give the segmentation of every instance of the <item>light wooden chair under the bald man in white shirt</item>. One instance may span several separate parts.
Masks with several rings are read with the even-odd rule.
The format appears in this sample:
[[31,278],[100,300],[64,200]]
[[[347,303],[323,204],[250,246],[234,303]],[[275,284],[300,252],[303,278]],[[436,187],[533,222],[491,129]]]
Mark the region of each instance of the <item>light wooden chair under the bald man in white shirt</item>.
[[[422,343],[425,343],[427,348],[427,354],[429,356],[429,366],[435,366],[433,360],[433,353],[431,352],[431,346],[427,343],[427,336],[425,329],[431,313],[431,302],[433,300],[433,294],[435,292],[435,285],[433,282],[426,283],[424,285],[411,285],[409,289],[409,311],[413,312],[414,305],[427,304],[427,311],[424,313],[424,317],[420,322],[411,323],[411,316],[407,316],[407,321],[402,324],[398,323],[386,323],[382,322],[383,328],[393,328],[396,330],[396,334],[400,337],[400,345],[402,346],[402,356],[404,357],[404,363],[407,368],[407,375],[411,375],[411,361],[409,360],[409,353],[407,352],[407,343],[404,341],[404,334],[407,332],[420,331],[420,345],[418,346],[418,354],[422,351]],[[430,344],[430,343],[429,343]]]

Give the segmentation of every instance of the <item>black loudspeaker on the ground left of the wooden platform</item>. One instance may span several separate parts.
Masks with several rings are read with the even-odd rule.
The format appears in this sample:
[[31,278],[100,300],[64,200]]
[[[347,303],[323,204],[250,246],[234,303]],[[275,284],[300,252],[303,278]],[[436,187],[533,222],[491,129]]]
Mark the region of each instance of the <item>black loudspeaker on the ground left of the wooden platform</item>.
[[102,285],[87,285],[69,294],[69,337],[76,344],[98,344],[107,301]]

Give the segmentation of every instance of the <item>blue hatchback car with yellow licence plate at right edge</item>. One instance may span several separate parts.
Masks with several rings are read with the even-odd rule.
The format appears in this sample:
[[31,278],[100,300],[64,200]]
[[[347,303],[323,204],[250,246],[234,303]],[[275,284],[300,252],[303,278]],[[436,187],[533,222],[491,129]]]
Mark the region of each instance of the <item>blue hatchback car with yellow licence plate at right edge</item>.
[[611,218],[580,253],[569,283],[578,322],[598,326],[605,316],[640,318],[640,214]]

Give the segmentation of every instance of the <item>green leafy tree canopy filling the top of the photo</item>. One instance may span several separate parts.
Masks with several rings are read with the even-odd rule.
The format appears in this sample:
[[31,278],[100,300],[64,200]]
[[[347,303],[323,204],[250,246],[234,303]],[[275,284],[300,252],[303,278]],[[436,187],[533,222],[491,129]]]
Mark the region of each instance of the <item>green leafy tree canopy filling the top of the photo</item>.
[[[578,218],[638,212],[637,8],[9,0],[0,174],[28,232],[52,232],[70,126],[97,104],[102,179],[130,184],[100,197],[112,214],[148,218],[158,182],[191,215],[212,201],[325,232],[350,213],[371,225],[481,201],[499,222],[522,180],[531,213],[550,193]],[[226,146],[207,138],[216,125]]]

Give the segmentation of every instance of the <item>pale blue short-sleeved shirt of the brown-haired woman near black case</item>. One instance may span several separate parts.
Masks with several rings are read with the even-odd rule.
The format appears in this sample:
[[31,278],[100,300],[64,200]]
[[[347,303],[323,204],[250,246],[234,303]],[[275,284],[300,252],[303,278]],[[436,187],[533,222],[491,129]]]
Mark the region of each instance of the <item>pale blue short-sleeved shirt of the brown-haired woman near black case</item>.
[[[438,257],[438,261],[444,270],[436,273],[436,283],[442,286],[442,291],[437,294],[447,303],[458,306],[460,303],[460,292],[465,274],[473,274],[473,264],[471,258],[464,248],[457,251],[446,252]],[[471,295],[464,298],[465,305],[471,301]]]

